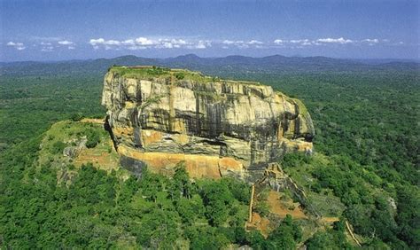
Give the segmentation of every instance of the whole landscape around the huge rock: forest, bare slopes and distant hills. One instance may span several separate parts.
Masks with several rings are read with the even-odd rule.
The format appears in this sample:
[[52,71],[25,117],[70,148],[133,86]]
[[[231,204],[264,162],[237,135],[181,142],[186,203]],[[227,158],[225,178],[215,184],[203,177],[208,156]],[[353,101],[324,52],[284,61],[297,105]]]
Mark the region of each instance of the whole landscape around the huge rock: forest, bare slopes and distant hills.
[[[154,65],[159,74],[188,68],[210,75],[208,82],[268,85],[306,106],[313,152],[276,160],[290,187],[255,185],[253,201],[249,183],[191,179],[185,162],[171,175],[145,168],[138,177],[120,168],[125,161],[104,123],[104,75],[113,65]],[[416,63],[186,55],[4,63],[0,70],[2,248],[420,247]]]

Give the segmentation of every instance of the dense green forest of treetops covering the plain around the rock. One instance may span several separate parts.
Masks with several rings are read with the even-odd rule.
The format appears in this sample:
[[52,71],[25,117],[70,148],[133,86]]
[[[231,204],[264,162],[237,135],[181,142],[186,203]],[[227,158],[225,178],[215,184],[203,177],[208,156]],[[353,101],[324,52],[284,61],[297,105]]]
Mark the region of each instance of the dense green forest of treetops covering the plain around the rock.
[[[89,73],[82,66],[60,70],[63,64],[34,71],[9,66],[0,76],[0,246],[293,249],[303,243],[302,226],[290,216],[268,238],[246,232],[247,184],[191,183],[183,166],[173,178],[145,173],[141,180],[123,180],[122,170],[107,174],[86,164],[72,184],[58,184],[57,168],[37,165],[45,131],[56,121],[105,115],[102,67],[89,64],[96,68]],[[336,197],[345,209],[340,222],[317,231],[306,246],[357,247],[346,240],[347,220],[362,247],[418,249],[418,68],[259,68],[191,63],[206,74],[269,84],[307,105],[316,129],[315,154],[287,155],[281,164],[312,197]]]

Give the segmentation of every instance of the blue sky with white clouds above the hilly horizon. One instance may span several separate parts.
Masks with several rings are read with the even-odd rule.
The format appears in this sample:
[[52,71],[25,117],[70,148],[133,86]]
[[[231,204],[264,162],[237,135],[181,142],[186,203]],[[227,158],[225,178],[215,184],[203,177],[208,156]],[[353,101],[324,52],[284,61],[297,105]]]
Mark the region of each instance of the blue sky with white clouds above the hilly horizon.
[[0,0],[0,61],[419,59],[420,1]]

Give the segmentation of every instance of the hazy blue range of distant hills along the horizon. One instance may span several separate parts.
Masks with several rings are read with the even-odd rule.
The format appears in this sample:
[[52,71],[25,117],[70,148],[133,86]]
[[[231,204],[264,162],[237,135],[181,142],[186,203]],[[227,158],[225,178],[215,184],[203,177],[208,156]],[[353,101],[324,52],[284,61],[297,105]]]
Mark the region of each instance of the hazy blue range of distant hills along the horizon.
[[149,59],[122,56],[113,59],[68,60],[57,62],[10,62],[0,64],[0,74],[74,74],[105,73],[113,65],[154,65],[182,67],[207,74],[224,72],[303,73],[303,72],[358,72],[366,70],[419,70],[420,63],[393,59],[356,60],[325,57],[284,57],[281,55],[263,58],[228,56],[224,58],[200,58],[187,54],[175,58]]

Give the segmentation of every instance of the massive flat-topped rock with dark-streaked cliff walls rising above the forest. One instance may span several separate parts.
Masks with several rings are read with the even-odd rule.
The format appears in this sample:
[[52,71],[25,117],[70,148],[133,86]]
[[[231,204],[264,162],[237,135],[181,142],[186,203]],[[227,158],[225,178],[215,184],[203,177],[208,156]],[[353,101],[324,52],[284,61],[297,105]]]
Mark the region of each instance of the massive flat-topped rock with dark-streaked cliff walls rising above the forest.
[[113,66],[102,105],[118,152],[155,172],[170,173],[184,161],[192,177],[252,182],[284,153],[312,152],[305,106],[258,82]]

